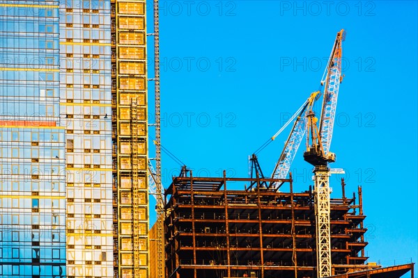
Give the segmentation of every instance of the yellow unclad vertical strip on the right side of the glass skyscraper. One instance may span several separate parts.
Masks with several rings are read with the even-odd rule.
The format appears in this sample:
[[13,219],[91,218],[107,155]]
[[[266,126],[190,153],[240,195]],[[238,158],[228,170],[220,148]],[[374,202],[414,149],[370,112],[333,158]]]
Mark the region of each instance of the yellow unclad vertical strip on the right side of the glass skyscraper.
[[145,1],[111,3],[115,277],[148,277]]

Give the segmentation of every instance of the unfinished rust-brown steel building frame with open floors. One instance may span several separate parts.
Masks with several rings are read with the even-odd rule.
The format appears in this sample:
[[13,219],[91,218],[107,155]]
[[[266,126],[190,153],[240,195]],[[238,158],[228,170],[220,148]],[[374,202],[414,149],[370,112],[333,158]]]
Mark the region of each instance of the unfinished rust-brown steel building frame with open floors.
[[[263,186],[272,182],[289,192]],[[355,277],[344,275],[379,269],[391,274],[376,277],[401,277],[412,265],[392,272],[365,264],[362,190],[346,197],[341,185],[343,196],[331,199],[332,274]],[[165,193],[166,277],[316,277],[313,190],[293,188],[292,179],[199,178],[192,172],[173,179]]]

